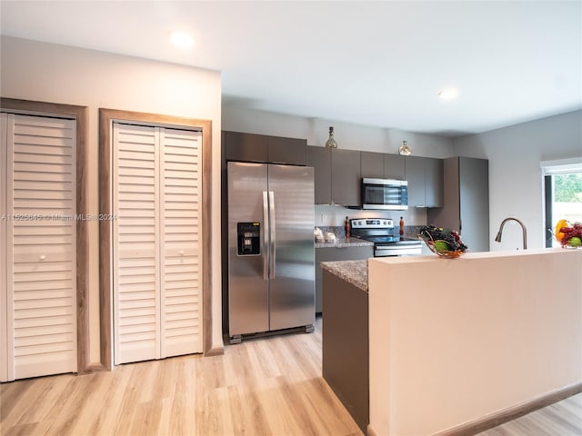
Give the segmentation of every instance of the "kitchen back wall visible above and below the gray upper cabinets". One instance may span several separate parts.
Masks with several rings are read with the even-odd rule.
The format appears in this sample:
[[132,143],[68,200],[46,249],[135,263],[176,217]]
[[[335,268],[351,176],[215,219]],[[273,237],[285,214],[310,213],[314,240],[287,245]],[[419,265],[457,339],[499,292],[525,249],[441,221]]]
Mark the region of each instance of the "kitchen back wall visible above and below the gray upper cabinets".
[[[306,139],[308,145],[324,146],[329,136],[329,126],[334,126],[338,148],[366,152],[397,154],[398,147],[406,140],[413,154],[426,157],[454,156],[450,138],[429,134],[415,134],[398,129],[386,129],[361,124],[341,123],[320,118],[306,118],[286,114],[274,114],[223,105],[222,128],[234,132],[271,134]],[[404,216],[406,225],[426,224],[426,209],[411,208],[402,212],[357,211],[342,206],[316,206],[316,225],[343,225],[350,218],[380,217],[398,220]]]

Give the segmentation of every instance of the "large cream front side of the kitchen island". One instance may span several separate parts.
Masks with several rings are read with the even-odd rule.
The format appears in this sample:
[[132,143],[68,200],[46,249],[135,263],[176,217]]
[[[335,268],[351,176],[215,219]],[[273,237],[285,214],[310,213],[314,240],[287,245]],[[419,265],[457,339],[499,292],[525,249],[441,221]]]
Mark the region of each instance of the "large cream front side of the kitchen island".
[[565,249],[369,259],[368,434],[475,434],[582,391],[581,265]]

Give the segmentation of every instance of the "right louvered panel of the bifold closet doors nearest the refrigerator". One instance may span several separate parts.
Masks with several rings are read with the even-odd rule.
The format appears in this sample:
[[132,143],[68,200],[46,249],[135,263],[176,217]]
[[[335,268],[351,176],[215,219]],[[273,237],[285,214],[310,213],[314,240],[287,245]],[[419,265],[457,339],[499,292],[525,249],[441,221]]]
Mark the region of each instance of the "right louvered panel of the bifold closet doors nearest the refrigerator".
[[161,129],[161,355],[202,352],[202,134]]

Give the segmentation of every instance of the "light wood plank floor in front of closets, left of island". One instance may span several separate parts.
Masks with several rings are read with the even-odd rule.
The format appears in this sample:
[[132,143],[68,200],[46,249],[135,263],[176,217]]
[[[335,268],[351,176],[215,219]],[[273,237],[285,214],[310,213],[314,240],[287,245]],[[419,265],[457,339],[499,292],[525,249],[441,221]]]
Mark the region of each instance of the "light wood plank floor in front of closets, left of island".
[[361,436],[321,377],[321,339],[318,318],[314,333],[227,345],[224,356],[3,383],[0,434]]

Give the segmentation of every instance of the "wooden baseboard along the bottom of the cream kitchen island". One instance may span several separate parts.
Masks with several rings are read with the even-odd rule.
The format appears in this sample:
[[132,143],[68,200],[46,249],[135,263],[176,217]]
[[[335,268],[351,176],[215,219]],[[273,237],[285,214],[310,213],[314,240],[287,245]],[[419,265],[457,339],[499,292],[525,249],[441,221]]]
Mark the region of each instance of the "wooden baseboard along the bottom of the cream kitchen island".
[[[497,425],[501,425],[507,421],[516,420],[521,416],[527,415],[527,413],[537,411],[538,409],[554,404],[557,401],[565,400],[580,392],[582,392],[582,381],[558,389],[557,391],[551,391],[535,400],[523,402],[502,411],[488,414],[476,421],[467,422],[446,431],[439,431],[432,436],[473,436],[481,431],[497,427]],[[369,426],[367,434],[368,436],[373,436],[375,434],[370,432]]]

